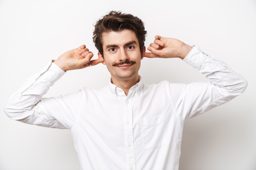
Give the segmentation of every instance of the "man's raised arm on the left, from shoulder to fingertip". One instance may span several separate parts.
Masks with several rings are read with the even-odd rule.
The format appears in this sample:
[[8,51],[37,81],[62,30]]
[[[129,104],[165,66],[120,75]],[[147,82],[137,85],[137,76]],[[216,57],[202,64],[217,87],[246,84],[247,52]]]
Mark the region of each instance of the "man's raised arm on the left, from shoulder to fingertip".
[[[61,96],[58,98],[42,97],[47,93],[49,88],[65,74],[65,71],[90,66],[88,62],[91,61],[92,56],[92,52],[90,52],[85,45],[63,53],[54,63],[50,62],[40,72],[28,78],[11,96],[5,105],[4,112],[9,118],[28,124],[54,128],[71,127],[72,123],[65,124],[65,120],[73,120],[74,122],[74,112],[76,111],[74,111],[75,109],[65,108],[67,105],[70,105],[70,103],[76,106],[75,108],[78,108],[79,106],[77,105],[79,101],[64,100],[64,97]],[[103,61],[104,59],[95,59],[91,61],[91,65],[97,65]],[[56,115],[61,114],[61,116],[58,116],[58,121],[56,121],[56,115],[53,116],[51,114],[52,112]]]

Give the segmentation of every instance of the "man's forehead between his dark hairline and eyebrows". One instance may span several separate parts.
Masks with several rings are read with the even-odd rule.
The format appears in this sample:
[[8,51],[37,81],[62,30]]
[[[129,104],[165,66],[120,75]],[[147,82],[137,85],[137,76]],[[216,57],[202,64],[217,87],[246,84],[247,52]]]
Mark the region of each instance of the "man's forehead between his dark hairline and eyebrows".
[[105,48],[109,45],[123,46],[127,42],[135,41],[139,45],[136,34],[130,30],[123,30],[119,32],[108,32],[102,35],[102,46]]

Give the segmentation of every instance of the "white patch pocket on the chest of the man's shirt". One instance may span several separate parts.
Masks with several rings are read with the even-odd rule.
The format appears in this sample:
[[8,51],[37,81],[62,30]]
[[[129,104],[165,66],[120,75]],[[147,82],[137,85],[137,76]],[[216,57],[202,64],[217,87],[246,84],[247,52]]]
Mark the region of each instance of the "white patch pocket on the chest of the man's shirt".
[[166,144],[166,118],[164,114],[140,119],[141,137],[145,149]]

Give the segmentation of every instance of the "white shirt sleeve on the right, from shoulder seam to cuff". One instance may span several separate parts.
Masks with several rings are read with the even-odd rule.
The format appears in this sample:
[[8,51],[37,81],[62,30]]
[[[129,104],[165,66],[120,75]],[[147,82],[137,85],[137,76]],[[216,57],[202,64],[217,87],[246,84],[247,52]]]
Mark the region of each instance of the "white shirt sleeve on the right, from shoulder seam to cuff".
[[183,59],[209,82],[170,83],[173,107],[182,120],[193,118],[242,94],[247,81],[227,64],[194,46]]

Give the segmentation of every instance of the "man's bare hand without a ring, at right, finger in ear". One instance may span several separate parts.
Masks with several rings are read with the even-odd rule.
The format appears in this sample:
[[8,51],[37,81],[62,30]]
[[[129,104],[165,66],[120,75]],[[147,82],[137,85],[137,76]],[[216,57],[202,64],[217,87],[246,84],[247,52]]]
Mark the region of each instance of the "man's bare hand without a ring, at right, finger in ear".
[[148,47],[150,52],[142,52],[143,57],[148,58],[174,58],[179,57],[184,59],[189,54],[191,46],[184,42],[174,39],[165,38],[159,35],[155,36],[154,43]]

